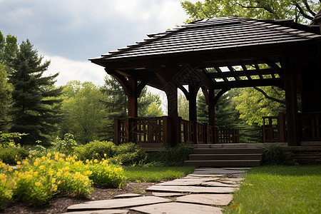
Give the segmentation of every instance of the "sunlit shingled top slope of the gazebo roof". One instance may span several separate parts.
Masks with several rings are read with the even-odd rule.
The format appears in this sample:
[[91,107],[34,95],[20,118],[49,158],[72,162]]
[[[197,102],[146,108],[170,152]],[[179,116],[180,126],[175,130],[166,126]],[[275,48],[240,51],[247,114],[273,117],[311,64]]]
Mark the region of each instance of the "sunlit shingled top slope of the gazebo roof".
[[98,58],[92,58],[91,61],[96,63],[100,60],[282,44],[321,38],[320,34],[313,33],[312,27],[304,29],[302,25],[297,25],[299,28],[295,24],[290,26],[290,23],[289,20],[267,21],[233,16],[203,19],[160,34],[149,34],[149,38],[144,41],[110,51]]

